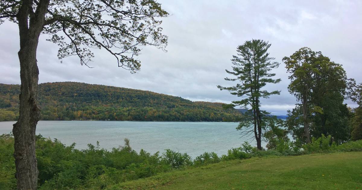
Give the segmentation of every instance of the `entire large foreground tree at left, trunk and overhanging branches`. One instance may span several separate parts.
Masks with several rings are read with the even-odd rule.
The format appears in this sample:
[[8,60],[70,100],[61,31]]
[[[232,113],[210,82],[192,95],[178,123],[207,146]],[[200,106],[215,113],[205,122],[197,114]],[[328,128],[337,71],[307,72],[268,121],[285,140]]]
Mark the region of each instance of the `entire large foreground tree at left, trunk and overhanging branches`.
[[39,120],[37,104],[39,70],[37,46],[41,33],[60,46],[58,58],[76,55],[88,66],[92,48],[105,49],[118,66],[131,72],[140,69],[140,46],[164,49],[167,37],[161,34],[161,21],[168,16],[155,0],[7,0],[0,2],[0,24],[15,22],[19,28],[20,116],[13,127],[14,157],[18,189],[37,188],[35,127]]

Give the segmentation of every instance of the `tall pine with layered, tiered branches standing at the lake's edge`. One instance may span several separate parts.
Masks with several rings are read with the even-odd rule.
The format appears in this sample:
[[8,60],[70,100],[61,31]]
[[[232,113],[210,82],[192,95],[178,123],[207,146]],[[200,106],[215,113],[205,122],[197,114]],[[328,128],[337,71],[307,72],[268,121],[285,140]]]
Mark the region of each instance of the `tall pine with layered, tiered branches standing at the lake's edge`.
[[[232,87],[218,86],[220,90],[228,90],[230,94],[237,95],[243,99],[232,101],[228,107],[241,106],[248,108],[244,113],[237,130],[243,130],[243,136],[253,134],[257,142],[257,148],[262,149],[261,140],[262,133],[269,124],[265,117],[269,117],[269,113],[260,110],[260,98],[269,98],[270,95],[280,94],[280,91],[268,92],[262,90],[267,83],[279,83],[281,79],[272,79],[275,76],[270,71],[277,68],[280,63],[271,62],[275,58],[269,57],[268,49],[271,44],[264,40],[246,41],[243,45],[237,47],[237,55],[233,55],[231,59],[233,71],[226,72],[234,75],[236,78],[225,78],[228,81],[240,81],[241,84],[236,84]],[[250,129],[252,128],[252,129]]]

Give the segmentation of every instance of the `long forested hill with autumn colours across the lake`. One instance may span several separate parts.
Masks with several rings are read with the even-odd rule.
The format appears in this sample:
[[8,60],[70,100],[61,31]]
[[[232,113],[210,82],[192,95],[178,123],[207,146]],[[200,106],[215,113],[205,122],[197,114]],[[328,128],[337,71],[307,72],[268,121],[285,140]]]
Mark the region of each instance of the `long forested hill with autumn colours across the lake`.
[[[0,121],[18,117],[20,85],[0,84]],[[78,82],[39,84],[41,120],[238,121],[222,103]]]

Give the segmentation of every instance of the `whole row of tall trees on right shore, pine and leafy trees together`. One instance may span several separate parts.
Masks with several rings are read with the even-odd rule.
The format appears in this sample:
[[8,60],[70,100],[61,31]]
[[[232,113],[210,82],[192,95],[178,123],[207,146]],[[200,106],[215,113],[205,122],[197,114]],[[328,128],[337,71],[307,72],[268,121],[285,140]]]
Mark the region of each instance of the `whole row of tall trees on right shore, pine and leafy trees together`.
[[[280,63],[273,62],[275,58],[269,56],[270,46],[269,42],[254,39],[238,46],[237,55],[231,59],[232,71],[226,70],[234,78],[225,80],[239,83],[231,87],[218,86],[220,90],[241,97],[224,107],[248,109],[237,127],[241,134],[255,139],[258,149],[262,149],[261,141],[266,141],[268,148],[288,145],[291,143],[288,133],[294,138],[293,143],[300,145],[322,136],[331,136],[337,144],[362,139],[362,83],[357,85],[354,79],[347,77],[341,64],[307,47],[282,59],[291,81],[288,91],[298,102],[288,111],[286,121],[260,109],[261,98],[280,93],[280,90],[262,89],[281,81],[272,73]],[[359,107],[348,107],[344,103],[346,99],[357,102]]]

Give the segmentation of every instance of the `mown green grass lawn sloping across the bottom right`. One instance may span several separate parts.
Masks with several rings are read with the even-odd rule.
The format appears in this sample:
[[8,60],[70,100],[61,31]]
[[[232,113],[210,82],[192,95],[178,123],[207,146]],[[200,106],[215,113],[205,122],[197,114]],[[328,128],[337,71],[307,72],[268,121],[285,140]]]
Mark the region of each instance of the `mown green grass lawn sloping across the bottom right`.
[[109,189],[362,189],[362,152],[225,161]]

